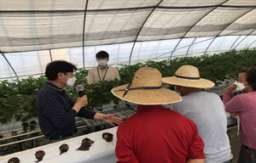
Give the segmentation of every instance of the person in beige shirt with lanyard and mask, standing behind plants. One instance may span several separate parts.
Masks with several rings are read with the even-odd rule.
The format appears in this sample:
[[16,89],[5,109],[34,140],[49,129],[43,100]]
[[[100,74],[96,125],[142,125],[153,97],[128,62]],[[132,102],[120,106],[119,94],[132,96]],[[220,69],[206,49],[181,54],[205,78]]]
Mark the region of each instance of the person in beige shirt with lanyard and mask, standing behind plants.
[[96,53],[96,60],[98,65],[93,67],[88,72],[88,84],[96,84],[100,81],[120,80],[119,71],[108,65],[109,54],[105,51]]

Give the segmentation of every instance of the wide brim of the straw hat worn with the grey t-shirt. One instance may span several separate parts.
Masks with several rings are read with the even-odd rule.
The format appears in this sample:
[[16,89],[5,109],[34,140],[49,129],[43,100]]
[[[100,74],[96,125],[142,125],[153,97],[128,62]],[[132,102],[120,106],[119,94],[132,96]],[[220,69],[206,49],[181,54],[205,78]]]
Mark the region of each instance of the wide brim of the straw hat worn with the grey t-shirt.
[[183,87],[207,88],[207,87],[215,86],[214,82],[209,81],[207,79],[203,79],[203,78],[200,78],[199,80],[192,80],[192,79],[183,79],[176,76],[172,76],[172,77],[162,78],[162,82],[176,85],[176,86],[183,86]]

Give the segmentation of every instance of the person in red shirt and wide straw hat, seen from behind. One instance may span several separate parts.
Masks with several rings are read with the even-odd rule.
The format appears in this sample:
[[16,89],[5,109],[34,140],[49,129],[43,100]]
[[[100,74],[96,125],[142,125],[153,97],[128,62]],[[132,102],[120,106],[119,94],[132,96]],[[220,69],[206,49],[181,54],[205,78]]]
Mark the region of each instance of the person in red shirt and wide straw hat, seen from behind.
[[114,96],[138,104],[137,113],[120,124],[115,155],[118,163],[203,163],[204,143],[193,121],[162,107],[181,101],[162,88],[159,70],[142,67],[130,84],[114,87]]

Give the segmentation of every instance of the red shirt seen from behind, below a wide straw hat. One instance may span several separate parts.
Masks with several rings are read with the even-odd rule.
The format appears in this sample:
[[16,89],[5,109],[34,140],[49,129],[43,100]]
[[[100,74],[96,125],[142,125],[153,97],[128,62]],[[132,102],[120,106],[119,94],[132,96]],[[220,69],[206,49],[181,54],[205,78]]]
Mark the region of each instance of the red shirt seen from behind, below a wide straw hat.
[[203,148],[193,121],[161,105],[139,105],[118,128],[115,154],[118,163],[185,163],[205,159]]

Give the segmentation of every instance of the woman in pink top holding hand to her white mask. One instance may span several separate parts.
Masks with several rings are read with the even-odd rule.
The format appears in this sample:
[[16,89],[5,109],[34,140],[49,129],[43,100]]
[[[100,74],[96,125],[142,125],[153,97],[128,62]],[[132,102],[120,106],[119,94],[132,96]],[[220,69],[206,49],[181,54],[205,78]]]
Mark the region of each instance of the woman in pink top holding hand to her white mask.
[[[243,93],[233,96],[233,90]],[[256,162],[256,67],[241,70],[236,83],[230,84],[223,98],[226,111],[239,116],[241,149],[238,162]]]

